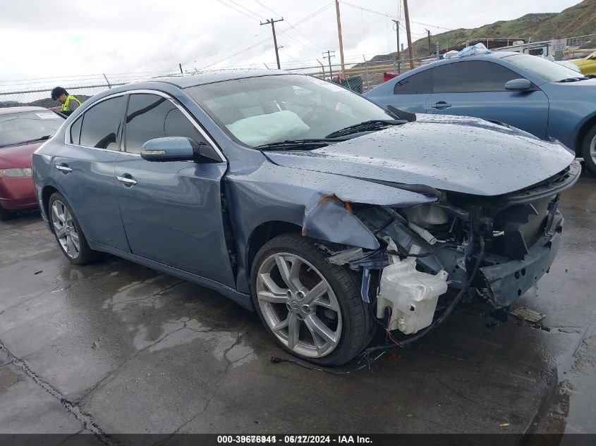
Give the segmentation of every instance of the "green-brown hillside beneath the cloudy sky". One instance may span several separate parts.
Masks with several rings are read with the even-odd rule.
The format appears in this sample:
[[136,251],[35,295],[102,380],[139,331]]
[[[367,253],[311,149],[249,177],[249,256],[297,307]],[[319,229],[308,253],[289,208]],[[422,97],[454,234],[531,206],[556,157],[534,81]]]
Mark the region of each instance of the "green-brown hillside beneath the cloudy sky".
[[[463,44],[466,41],[487,37],[509,37],[524,39],[526,42],[561,39],[596,33],[596,0],[584,0],[560,13],[526,14],[515,20],[501,20],[474,29],[460,28],[441,34],[431,35],[431,48],[434,51],[436,42],[439,48]],[[428,56],[428,40],[426,37],[412,43],[414,57]],[[407,50],[406,50],[407,51]],[[379,54],[370,61],[387,61],[396,54]]]

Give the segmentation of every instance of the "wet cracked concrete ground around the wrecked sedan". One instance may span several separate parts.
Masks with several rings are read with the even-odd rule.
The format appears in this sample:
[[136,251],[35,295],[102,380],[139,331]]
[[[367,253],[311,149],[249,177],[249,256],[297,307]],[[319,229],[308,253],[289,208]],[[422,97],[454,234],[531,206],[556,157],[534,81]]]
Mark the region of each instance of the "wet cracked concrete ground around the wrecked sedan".
[[466,306],[344,375],[272,364],[257,316],[217,292],[73,266],[37,213],[0,223],[0,433],[594,433],[596,178],[560,208],[559,256],[514,304],[544,329]]

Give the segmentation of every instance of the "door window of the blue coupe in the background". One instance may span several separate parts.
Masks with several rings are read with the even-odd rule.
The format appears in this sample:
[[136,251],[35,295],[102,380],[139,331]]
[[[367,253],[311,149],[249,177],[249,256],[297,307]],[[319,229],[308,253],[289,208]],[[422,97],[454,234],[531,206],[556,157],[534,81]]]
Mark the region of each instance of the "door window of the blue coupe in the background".
[[434,67],[433,93],[505,92],[521,75],[494,62],[462,61]]

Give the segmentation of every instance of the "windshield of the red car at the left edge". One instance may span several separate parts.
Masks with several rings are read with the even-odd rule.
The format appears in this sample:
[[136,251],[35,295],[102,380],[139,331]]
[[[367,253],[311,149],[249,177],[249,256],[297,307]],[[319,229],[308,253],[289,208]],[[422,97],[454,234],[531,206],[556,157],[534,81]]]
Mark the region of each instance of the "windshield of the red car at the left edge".
[[0,113],[0,146],[52,136],[64,118],[49,110]]

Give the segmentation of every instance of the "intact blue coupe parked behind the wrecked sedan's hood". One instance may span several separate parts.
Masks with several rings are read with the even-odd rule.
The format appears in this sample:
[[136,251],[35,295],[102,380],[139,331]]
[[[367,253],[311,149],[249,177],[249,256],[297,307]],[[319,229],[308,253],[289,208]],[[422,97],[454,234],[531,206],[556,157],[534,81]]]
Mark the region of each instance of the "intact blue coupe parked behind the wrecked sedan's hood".
[[596,79],[528,54],[449,58],[365,93],[404,111],[498,120],[555,138],[596,173]]

